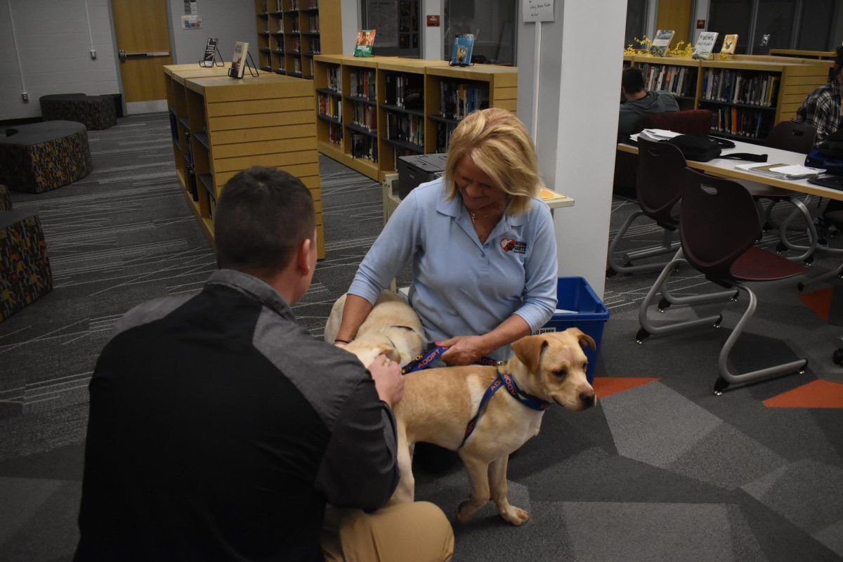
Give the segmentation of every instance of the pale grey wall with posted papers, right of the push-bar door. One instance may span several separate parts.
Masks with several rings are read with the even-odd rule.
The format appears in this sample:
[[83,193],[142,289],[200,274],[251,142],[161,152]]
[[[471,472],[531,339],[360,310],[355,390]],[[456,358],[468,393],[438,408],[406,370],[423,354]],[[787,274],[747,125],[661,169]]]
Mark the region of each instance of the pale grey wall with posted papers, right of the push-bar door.
[[190,64],[201,59],[208,37],[216,37],[223,61],[230,62],[236,41],[249,43],[249,52],[258,62],[257,23],[252,0],[197,0],[201,29],[181,29],[185,15],[184,0],[169,0],[170,43],[174,46],[173,64]]

